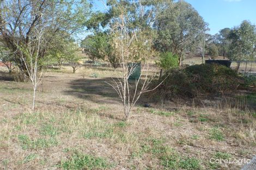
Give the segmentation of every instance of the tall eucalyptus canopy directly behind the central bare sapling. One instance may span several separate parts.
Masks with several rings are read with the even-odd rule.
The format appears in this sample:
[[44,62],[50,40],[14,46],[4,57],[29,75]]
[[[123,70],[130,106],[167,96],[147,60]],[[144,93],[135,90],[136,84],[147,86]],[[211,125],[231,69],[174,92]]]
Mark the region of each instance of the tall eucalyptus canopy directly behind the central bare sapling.
[[[104,1],[101,1],[104,3]],[[137,30],[147,30],[148,34],[155,35],[153,24],[161,11],[163,0],[109,0],[104,4],[105,12],[95,12],[86,25],[93,35],[89,35],[81,43],[92,60],[103,59],[111,63],[114,68],[120,64],[120,58],[114,54],[111,46],[113,36],[111,30],[116,27],[120,15],[127,20],[126,31],[132,34]],[[172,2],[168,0],[168,2]],[[120,8],[122,4],[122,8]],[[150,32],[150,33],[149,33]]]

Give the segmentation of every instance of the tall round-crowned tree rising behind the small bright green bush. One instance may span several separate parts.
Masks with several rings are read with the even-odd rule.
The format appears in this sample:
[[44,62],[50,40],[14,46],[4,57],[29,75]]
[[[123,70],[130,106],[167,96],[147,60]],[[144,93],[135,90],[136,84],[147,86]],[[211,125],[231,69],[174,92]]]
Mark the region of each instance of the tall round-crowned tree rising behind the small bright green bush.
[[163,7],[154,24],[158,35],[156,48],[178,54],[181,65],[184,53],[198,44],[197,37],[207,25],[191,4],[185,1],[167,2]]

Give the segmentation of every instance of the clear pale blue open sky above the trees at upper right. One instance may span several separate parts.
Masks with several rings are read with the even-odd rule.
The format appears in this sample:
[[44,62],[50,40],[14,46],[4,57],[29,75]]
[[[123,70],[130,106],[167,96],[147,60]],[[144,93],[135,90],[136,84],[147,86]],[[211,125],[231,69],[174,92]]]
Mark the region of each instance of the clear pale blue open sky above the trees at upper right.
[[185,0],[209,23],[210,34],[239,26],[243,20],[256,24],[256,0]]

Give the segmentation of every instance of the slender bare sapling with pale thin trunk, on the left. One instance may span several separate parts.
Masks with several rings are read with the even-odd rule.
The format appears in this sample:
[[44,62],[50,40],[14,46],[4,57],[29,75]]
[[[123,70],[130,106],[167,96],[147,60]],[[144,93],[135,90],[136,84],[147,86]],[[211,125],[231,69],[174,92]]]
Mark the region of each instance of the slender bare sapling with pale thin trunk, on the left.
[[[25,64],[28,77],[31,80],[32,87],[33,87],[33,102],[32,102],[32,110],[35,108],[35,95],[36,89],[41,82],[41,77],[43,71],[40,69],[39,71],[39,53],[40,48],[42,46],[42,39],[43,32],[36,29],[36,36],[31,39],[26,46],[17,45],[21,52],[21,59]],[[40,72],[40,73],[39,73]]]

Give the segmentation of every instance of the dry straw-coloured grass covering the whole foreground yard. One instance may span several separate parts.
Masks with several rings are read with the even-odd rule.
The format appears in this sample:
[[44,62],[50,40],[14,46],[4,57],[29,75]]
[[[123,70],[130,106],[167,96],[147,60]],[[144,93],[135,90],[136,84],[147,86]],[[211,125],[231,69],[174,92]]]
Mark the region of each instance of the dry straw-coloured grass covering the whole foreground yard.
[[110,75],[102,67],[48,71],[34,112],[29,83],[0,80],[1,168],[240,169],[209,160],[255,153],[252,111],[228,103],[158,102],[137,105],[124,122],[120,100],[104,83]]

